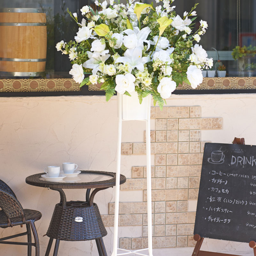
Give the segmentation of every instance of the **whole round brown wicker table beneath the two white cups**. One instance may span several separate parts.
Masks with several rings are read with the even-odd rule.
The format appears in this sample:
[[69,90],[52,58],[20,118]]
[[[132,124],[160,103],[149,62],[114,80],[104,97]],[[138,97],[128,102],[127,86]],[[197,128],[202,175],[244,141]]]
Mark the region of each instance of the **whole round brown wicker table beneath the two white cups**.
[[[53,239],[56,239],[53,256],[58,254],[60,240],[86,241],[92,239],[96,241],[99,255],[107,256],[102,239],[103,236],[107,235],[107,230],[101,220],[97,204],[93,203],[93,198],[98,191],[116,185],[116,173],[81,171],[76,178],[64,178],[63,181],[58,182],[45,181],[41,177],[42,174],[44,173],[28,176],[26,183],[57,190],[60,193],[60,203],[55,205],[52,220],[46,233],[50,240],[45,256],[50,253]],[[109,177],[110,179],[108,179]],[[120,175],[120,184],[125,181],[125,176]],[[63,188],[86,188],[86,201],[67,202]],[[93,189],[92,192],[91,189]],[[76,217],[82,217],[83,219]]]

